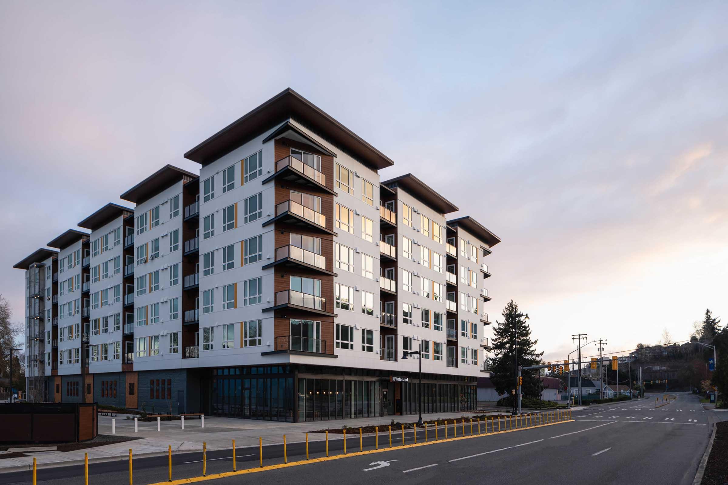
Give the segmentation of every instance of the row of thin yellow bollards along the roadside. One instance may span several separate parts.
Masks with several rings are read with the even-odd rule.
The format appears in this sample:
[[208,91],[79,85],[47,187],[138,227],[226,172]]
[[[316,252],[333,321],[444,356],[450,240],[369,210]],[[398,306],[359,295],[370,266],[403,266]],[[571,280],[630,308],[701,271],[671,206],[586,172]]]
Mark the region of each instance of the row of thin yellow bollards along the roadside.
[[[491,433],[496,433],[496,422],[498,422],[498,431],[501,431],[501,420],[503,420],[503,430],[514,430],[521,428],[531,428],[534,426],[548,425],[554,422],[561,422],[571,419],[571,409],[560,409],[553,412],[544,412],[540,414],[522,414],[518,416],[510,416],[505,418],[490,418]],[[476,420],[478,425],[478,435],[481,434],[480,430],[480,418]],[[465,420],[461,422],[462,436],[465,434]],[[485,432],[488,434],[488,418],[485,421]],[[473,420],[470,419],[470,436],[475,435],[473,428]],[[389,432],[389,447],[392,447],[392,426],[387,426]],[[435,423],[435,441],[440,440],[439,426]],[[445,422],[445,439],[448,439],[448,422]],[[457,438],[457,420],[453,420],[453,436]],[[424,441],[429,442],[429,436],[427,431],[427,423],[424,423]],[[347,454],[347,430],[343,430],[344,435],[344,454]],[[379,449],[379,426],[374,427],[374,449]],[[326,442],[326,456],[329,456],[328,452],[328,431],[325,432]],[[417,443],[417,425],[414,425],[414,442]],[[405,444],[405,425],[402,425],[402,445]],[[364,451],[363,431],[359,428],[359,451]],[[258,438],[258,459],[260,466],[263,466],[263,438]],[[309,433],[306,433],[306,460],[309,460]],[[288,463],[288,444],[285,435],[283,435],[283,462]],[[84,453],[84,485],[89,483],[89,461],[88,453]],[[232,470],[237,470],[237,462],[235,455],[235,440],[232,440]],[[202,443],[202,476],[207,474],[207,443]],[[167,446],[167,479],[172,481],[172,446]],[[33,485],[36,485],[36,458],[33,457]],[[129,449],[129,485],[133,485],[133,471],[132,471],[132,449]]]

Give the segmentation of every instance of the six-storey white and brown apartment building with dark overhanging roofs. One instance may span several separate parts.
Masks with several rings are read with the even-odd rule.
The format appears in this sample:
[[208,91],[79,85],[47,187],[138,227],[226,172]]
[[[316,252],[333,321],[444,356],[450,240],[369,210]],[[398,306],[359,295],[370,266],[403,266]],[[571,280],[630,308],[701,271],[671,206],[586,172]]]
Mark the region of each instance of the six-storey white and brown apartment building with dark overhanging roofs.
[[420,392],[424,412],[475,407],[499,239],[448,221],[441,188],[381,181],[394,162],[290,89],[185,157],[199,176],[167,165],[122,194],[133,214],[82,221],[89,398],[288,421],[413,414]]

